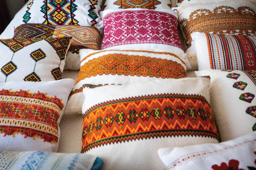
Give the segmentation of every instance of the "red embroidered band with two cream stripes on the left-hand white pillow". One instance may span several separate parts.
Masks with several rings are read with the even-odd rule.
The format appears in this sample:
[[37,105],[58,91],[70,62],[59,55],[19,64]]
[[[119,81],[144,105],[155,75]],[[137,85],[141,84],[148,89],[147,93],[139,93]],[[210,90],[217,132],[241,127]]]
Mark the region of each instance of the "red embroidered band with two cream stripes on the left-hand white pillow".
[[42,138],[44,142],[58,142],[58,119],[63,109],[61,99],[40,92],[0,91],[0,132],[24,138]]

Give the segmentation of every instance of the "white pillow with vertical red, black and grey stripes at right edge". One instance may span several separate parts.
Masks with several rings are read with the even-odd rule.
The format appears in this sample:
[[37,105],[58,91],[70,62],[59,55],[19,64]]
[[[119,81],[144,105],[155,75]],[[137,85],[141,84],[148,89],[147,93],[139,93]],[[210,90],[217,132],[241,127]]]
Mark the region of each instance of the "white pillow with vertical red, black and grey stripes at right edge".
[[256,36],[193,32],[198,69],[256,70]]

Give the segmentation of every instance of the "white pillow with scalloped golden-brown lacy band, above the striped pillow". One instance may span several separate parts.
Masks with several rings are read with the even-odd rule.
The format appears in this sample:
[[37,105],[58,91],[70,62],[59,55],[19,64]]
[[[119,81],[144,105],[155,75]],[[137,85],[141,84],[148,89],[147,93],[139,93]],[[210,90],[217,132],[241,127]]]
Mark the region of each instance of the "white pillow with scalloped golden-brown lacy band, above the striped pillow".
[[216,3],[179,6],[173,10],[178,12],[179,24],[188,47],[191,46],[192,32],[248,36],[256,34],[255,1],[216,1]]

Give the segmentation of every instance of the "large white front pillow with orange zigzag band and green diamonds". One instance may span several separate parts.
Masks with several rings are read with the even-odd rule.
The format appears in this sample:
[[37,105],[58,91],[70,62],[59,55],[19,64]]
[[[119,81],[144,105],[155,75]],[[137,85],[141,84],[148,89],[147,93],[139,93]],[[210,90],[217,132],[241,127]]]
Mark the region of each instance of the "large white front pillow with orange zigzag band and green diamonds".
[[164,169],[159,148],[218,143],[209,85],[180,78],[84,90],[81,152],[104,169]]

